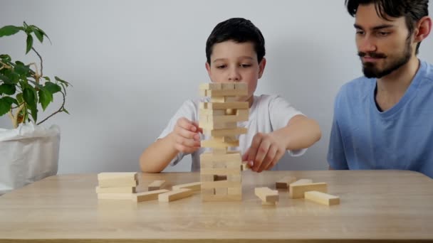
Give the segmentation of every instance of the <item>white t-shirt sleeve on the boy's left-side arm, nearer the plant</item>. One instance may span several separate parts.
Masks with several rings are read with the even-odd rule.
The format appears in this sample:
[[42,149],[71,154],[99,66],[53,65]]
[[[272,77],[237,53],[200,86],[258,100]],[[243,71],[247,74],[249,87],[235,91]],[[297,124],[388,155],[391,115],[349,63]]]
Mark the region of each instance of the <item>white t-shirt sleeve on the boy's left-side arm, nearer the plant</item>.
[[[197,107],[194,104],[194,102],[189,99],[186,102],[182,104],[182,106],[177,110],[177,112],[174,114],[172,119],[169,120],[167,126],[162,131],[160,136],[157,137],[157,139],[165,138],[169,133],[171,133],[174,129],[174,126],[176,126],[177,120],[181,117],[185,117],[186,119],[189,119],[189,121],[195,121],[196,120],[196,113],[197,113]],[[189,153],[177,153],[177,156],[172,159],[172,161],[169,163],[170,166],[175,166],[179,161],[184,158],[185,155]]]

